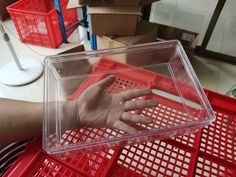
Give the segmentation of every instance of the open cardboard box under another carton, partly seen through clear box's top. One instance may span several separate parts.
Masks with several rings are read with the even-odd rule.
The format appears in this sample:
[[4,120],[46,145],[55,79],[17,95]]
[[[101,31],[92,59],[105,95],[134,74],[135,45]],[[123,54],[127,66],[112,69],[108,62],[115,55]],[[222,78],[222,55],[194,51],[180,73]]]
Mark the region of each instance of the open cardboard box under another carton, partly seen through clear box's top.
[[[141,44],[154,42],[156,39],[158,26],[154,23],[147,21],[141,21],[138,24],[135,36],[97,36],[97,47],[98,49],[107,49],[114,47],[121,47],[125,45]],[[140,53],[129,54],[118,54],[113,56],[113,60],[119,60],[123,63],[133,64],[135,66],[147,65],[150,61],[146,58],[151,59],[153,53],[150,51],[144,52],[143,55]]]

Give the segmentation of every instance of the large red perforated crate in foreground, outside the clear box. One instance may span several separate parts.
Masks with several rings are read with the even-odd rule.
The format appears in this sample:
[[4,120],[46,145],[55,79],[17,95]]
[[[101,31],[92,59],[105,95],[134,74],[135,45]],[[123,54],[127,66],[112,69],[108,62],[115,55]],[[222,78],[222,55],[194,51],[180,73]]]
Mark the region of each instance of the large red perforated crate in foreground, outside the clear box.
[[[113,66],[109,65],[109,67]],[[96,67],[94,71],[99,72],[99,70],[104,68]],[[91,79],[87,82],[94,83]],[[166,79],[161,77],[158,79],[160,88],[165,86],[165,89],[172,90],[171,84]],[[84,84],[73,97],[79,95],[80,91],[87,86]],[[48,155],[41,148],[42,142],[34,140],[27,145],[26,151],[5,176],[235,177],[236,99],[208,90],[205,90],[205,93],[216,113],[216,121],[195,134],[122,148],[110,148],[73,158]],[[191,96],[191,92],[189,96],[195,99]],[[93,132],[91,129],[83,131],[97,135],[102,133],[95,130]],[[73,134],[68,137],[67,135],[65,139],[73,140]],[[82,132],[82,135],[83,138],[89,138],[87,133]]]

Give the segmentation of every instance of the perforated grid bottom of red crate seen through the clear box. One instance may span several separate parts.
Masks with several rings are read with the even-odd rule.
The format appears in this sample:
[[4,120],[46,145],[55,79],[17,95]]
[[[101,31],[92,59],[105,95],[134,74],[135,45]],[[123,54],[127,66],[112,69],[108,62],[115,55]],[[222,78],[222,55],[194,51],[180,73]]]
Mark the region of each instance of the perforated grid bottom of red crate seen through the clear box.
[[[138,89],[144,88],[144,85],[140,85],[134,81],[130,81],[127,78],[122,78],[120,76],[116,76],[116,80],[114,84],[112,84],[108,89],[108,93],[120,93],[126,90],[131,89]],[[87,80],[91,81],[91,80]],[[94,82],[94,81],[91,81]],[[89,83],[85,84],[90,85]],[[81,92],[81,90],[79,90]],[[74,94],[71,99],[75,99],[78,97],[80,93]],[[157,96],[156,96],[157,97]],[[153,98],[152,98],[153,99]],[[158,128],[167,128],[173,127],[180,124],[185,124],[188,122],[192,122],[193,120],[189,119],[189,115],[185,113],[183,105],[180,103],[173,102],[168,105],[168,100],[163,99],[161,97],[154,98],[158,100],[159,104],[157,107],[154,108],[146,108],[140,111],[135,111],[135,114],[139,114],[142,116],[148,116],[153,119],[151,124],[136,124],[136,129],[138,130],[152,130]],[[171,101],[169,101],[171,102]],[[197,111],[196,111],[197,112]],[[197,119],[197,117],[195,117]],[[193,118],[194,119],[194,118]],[[109,128],[82,128],[77,131],[68,130],[66,133],[63,134],[61,143],[63,145],[68,144],[75,144],[79,142],[88,142],[90,140],[101,140],[107,137],[117,137],[122,135],[124,132],[116,130],[116,129],[109,129]],[[184,133],[184,132],[183,132]]]

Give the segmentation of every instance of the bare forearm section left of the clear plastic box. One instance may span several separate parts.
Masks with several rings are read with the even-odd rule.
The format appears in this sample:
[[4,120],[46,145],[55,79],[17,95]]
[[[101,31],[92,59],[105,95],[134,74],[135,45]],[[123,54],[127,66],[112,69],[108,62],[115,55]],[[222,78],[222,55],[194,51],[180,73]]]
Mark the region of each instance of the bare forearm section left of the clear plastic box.
[[43,105],[0,98],[0,145],[41,136]]

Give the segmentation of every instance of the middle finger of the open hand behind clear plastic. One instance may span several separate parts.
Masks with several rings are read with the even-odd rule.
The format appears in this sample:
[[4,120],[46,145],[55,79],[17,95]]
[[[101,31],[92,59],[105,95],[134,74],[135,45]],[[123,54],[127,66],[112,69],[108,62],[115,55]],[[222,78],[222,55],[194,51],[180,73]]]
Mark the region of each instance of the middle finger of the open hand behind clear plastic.
[[126,101],[125,110],[135,110],[135,109],[144,109],[157,106],[158,103],[154,100],[136,100],[136,101]]

